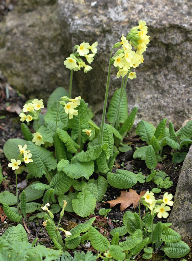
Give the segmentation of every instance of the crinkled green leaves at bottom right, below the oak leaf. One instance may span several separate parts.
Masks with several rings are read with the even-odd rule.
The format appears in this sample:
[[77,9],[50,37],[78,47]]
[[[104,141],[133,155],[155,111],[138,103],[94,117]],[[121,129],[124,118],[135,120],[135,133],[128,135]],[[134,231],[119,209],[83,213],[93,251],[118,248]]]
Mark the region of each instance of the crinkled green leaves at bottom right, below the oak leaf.
[[[148,212],[141,222],[142,230],[139,222],[139,215],[130,211],[125,212],[123,216],[123,226],[114,228],[110,234],[113,236],[111,242],[100,234],[95,228],[90,227],[88,232],[88,240],[91,245],[100,252],[109,252],[114,260],[132,260],[143,251],[142,258],[150,259],[153,251],[163,250],[169,258],[181,258],[189,251],[189,246],[181,241],[181,236],[173,229],[169,228],[171,223],[158,222],[153,225],[153,242],[151,241],[152,216]],[[126,240],[119,242],[119,237],[126,236]],[[154,244],[154,250],[150,247]],[[102,257],[108,260],[107,257]]]

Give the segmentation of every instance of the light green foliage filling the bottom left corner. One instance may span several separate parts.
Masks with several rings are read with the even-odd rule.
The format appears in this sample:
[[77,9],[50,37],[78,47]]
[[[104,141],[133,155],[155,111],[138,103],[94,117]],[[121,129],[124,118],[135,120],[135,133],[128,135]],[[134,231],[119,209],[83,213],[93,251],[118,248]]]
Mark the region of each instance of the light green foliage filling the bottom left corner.
[[0,237],[0,260],[43,261],[55,260],[62,255],[61,250],[53,250],[42,245],[28,243],[27,233],[21,224],[9,227]]

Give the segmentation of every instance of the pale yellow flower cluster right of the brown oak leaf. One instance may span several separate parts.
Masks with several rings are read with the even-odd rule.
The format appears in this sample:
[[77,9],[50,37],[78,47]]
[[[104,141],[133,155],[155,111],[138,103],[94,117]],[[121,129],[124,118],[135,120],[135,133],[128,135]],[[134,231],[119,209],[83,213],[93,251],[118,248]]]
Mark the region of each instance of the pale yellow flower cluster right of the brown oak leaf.
[[[168,192],[165,192],[163,195],[163,199],[161,201],[161,205],[156,205],[157,200],[155,200],[154,193],[147,191],[145,195],[143,196],[145,199],[145,202],[148,203],[147,207],[153,211],[154,213],[157,213],[158,218],[167,218],[169,216],[169,213],[167,211],[170,211],[169,206],[173,206],[173,201],[171,200],[173,198],[172,194],[168,194]],[[168,205],[168,206],[166,206]]]

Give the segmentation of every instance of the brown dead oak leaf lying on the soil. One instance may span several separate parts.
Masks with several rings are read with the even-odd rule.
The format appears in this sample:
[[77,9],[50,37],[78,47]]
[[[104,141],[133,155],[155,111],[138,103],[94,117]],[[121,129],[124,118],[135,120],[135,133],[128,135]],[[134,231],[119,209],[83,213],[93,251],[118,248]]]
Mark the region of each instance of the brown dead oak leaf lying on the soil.
[[140,195],[137,194],[137,192],[134,189],[129,189],[128,191],[121,191],[121,196],[117,197],[114,200],[106,201],[105,203],[110,203],[110,207],[114,207],[117,204],[121,204],[120,210],[123,211],[127,207],[129,207],[131,204],[133,204],[133,207],[135,209],[136,206],[139,204],[139,200],[143,195],[145,194],[145,191],[141,191]]

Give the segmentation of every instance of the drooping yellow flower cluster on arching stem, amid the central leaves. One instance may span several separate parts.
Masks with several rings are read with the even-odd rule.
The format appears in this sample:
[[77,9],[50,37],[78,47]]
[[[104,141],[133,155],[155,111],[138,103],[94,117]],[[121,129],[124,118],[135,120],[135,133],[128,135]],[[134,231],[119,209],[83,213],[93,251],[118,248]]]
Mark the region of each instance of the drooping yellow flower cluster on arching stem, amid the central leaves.
[[[80,105],[81,96],[75,97],[74,99],[69,99],[69,97],[64,96],[61,100],[59,103],[64,107],[65,113],[67,115],[69,114],[69,119],[72,119],[74,115],[78,115],[78,110],[75,110],[75,108]],[[69,102],[66,103],[66,101]]]

